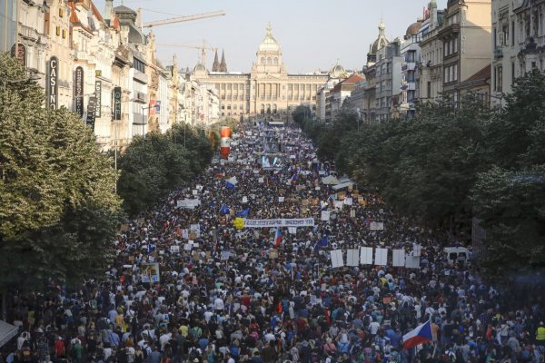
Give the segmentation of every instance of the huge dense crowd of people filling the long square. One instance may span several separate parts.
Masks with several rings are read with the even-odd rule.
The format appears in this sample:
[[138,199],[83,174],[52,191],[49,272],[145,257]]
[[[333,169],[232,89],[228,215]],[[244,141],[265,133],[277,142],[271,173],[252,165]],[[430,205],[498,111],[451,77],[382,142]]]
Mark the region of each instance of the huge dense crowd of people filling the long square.
[[[376,193],[333,191],[322,183],[333,166],[317,162],[297,127],[239,132],[229,160],[122,226],[104,276],[77,290],[13,296],[20,333],[3,362],[543,361],[542,296],[512,299],[482,283],[470,261],[445,258],[442,248],[456,241],[396,216]],[[264,133],[282,145],[276,168],[263,168]],[[335,203],[343,198],[353,203]],[[237,214],[315,224],[279,236],[237,229]],[[370,230],[373,221],[383,230]],[[417,269],[391,260],[332,268],[332,249],[414,245]],[[431,341],[403,348],[403,335],[427,320]]]

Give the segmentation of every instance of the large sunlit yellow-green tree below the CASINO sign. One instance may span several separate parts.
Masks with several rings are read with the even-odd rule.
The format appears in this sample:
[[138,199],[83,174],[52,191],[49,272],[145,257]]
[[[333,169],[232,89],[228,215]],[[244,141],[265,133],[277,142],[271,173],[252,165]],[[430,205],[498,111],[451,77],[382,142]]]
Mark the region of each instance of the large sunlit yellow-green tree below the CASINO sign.
[[0,55],[0,288],[44,288],[104,270],[120,219],[111,160],[74,113]]

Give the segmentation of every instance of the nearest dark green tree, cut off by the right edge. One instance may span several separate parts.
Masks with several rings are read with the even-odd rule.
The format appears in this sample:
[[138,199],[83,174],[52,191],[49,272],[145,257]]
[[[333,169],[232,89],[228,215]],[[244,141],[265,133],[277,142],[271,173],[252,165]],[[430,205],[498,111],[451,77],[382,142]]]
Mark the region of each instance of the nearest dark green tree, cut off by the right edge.
[[519,78],[489,126],[494,165],[478,175],[473,205],[487,230],[483,266],[490,275],[545,271],[543,93],[545,75],[534,71]]

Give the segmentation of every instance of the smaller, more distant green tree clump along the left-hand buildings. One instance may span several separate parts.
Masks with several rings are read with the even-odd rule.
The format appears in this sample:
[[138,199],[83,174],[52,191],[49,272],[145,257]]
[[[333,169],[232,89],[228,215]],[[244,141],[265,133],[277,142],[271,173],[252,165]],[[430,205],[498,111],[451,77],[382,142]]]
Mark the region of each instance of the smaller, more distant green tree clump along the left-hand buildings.
[[[184,147],[185,145],[185,147]],[[205,132],[177,124],[165,134],[137,136],[121,157],[117,184],[124,210],[144,211],[208,165],[213,148]]]

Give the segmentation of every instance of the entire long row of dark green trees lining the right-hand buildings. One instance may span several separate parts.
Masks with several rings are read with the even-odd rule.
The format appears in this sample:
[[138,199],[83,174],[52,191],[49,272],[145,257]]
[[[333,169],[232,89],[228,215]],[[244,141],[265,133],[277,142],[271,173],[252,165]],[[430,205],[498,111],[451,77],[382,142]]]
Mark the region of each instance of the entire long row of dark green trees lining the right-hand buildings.
[[[461,103],[424,104],[411,120],[354,126],[350,113],[294,120],[360,185],[403,214],[468,236],[471,217],[487,230],[482,267],[490,277],[545,270],[545,75],[520,78],[506,106],[469,94]],[[463,233],[463,234],[461,234]]]

